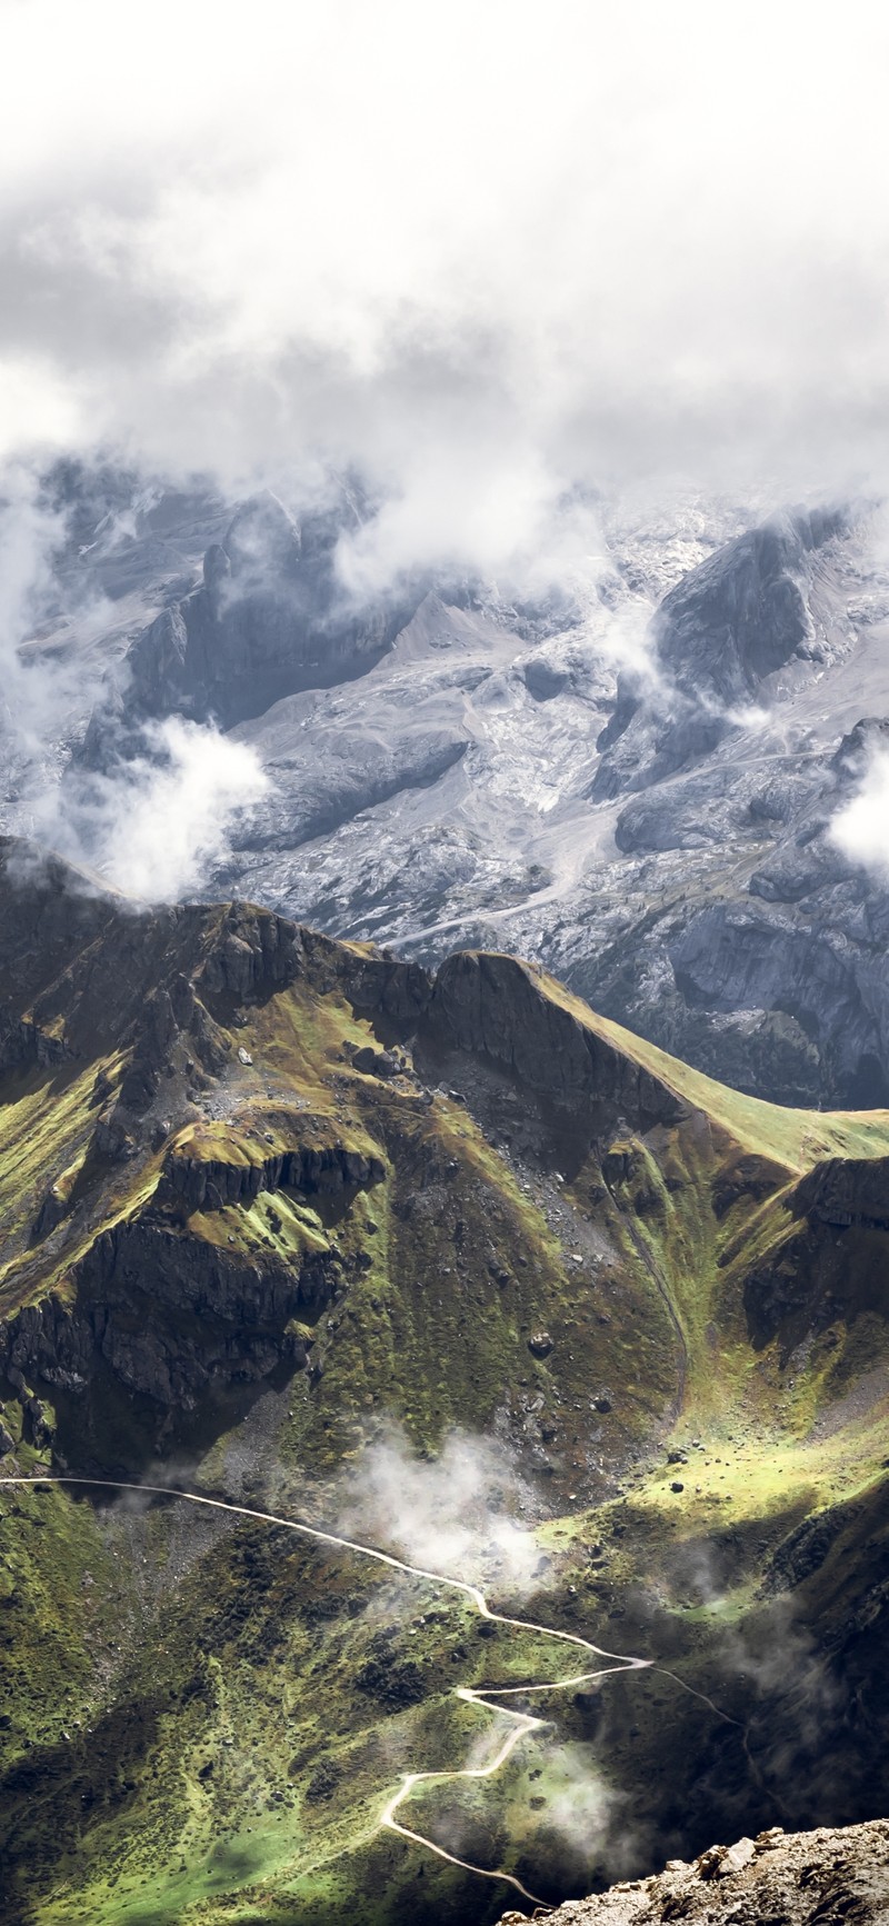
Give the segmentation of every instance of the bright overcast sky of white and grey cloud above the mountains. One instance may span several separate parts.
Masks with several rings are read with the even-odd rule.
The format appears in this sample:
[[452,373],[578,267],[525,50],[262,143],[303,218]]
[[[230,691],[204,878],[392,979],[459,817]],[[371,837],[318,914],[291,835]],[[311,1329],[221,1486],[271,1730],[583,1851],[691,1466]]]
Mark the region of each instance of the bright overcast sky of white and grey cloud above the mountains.
[[393,497],[383,566],[495,566],[577,480],[883,485],[874,4],[0,21],[0,455],[356,462]]

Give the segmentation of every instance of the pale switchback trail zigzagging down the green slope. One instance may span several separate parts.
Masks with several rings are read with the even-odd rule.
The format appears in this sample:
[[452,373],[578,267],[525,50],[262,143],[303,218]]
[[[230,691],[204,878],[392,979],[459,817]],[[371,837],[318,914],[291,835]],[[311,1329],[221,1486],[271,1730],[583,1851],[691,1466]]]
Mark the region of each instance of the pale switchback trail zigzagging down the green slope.
[[[591,1672],[577,1672],[568,1679],[548,1679],[545,1683],[493,1685],[493,1687],[458,1685],[454,1689],[454,1695],[462,1699],[466,1705],[483,1705],[489,1712],[496,1712],[500,1718],[510,1720],[510,1731],[506,1733],[502,1745],[485,1766],[466,1766],[464,1770],[456,1768],[450,1772],[404,1772],[398,1791],[393,1793],[393,1797],[387,1801],[379,1816],[381,1828],[398,1834],[402,1839],[410,1839],[414,1845],[421,1845],[427,1853],[435,1853],[437,1859],[444,1859],[450,1866],[460,1866],[464,1872],[473,1872],[481,1880],[502,1880],[506,1886],[512,1886],[518,1893],[521,1893],[521,1897],[527,1899],[531,1905],[546,1907],[550,1911],[550,1903],[546,1899],[541,1899],[537,1893],[529,1893],[527,1886],[523,1886],[521,1880],[518,1880],[512,1872],[489,1870],[487,1866],[473,1866],[468,1859],[458,1859],[454,1853],[448,1853],[443,1845],[437,1845],[435,1839],[427,1839],[425,1834],[412,1832],[408,1826],[402,1826],[396,1814],[418,1785],[431,1782],[441,1783],[444,1780],[493,1778],[493,1774],[498,1772],[502,1764],[506,1764],[510,1753],[514,1753],[516,1745],[529,1731],[543,1731],[548,1726],[548,1720],[545,1718],[535,1718],[531,1712],[514,1712],[506,1705],[493,1705],[491,1703],[493,1699],[516,1699],[516,1697],[525,1699],[529,1697],[529,1693],[566,1691],[572,1685],[573,1687],[585,1685],[593,1679],[608,1678],[608,1674],[612,1672],[643,1672],[650,1668],[652,1664],[650,1658],[635,1658],[627,1656],[625,1653],[606,1653],[600,1645],[593,1645],[591,1639],[583,1639],[579,1631],[562,1631],[558,1626],[539,1626],[531,1618],[510,1618],[506,1612],[493,1612],[485,1599],[485,1593],[477,1585],[470,1585],[468,1579],[446,1577],[443,1572],[429,1572],[425,1566],[414,1566],[408,1564],[404,1558],[394,1558],[393,1552],[381,1552],[377,1550],[375,1545],[362,1545],[358,1539],[344,1539],[339,1537],[339,1533],[335,1531],[323,1531],[319,1525],[306,1525],[294,1518],[281,1518],[277,1512],[260,1512],[248,1504],[231,1504],[231,1500],[227,1498],[206,1498],[202,1497],[202,1493],[177,1491],[173,1485],[137,1485],[137,1483],[127,1483],[125,1479],[119,1477],[67,1477],[67,1475],[54,1477],[54,1475],[44,1475],[42,1471],[35,1473],[33,1477],[21,1477],[21,1475],[0,1477],[0,1489],[4,1485],[31,1485],[37,1489],[40,1485],[79,1485],[87,1491],[92,1489],[92,1491],[150,1493],[162,1498],[183,1498],[187,1504],[206,1504],[214,1512],[231,1512],[237,1518],[256,1518],[266,1525],[283,1525],[287,1531],[298,1531],[300,1537],[316,1539],[316,1543],[319,1545],[333,1545],[337,1547],[337,1550],[358,1552],[360,1558],[373,1558],[375,1564],[389,1566],[389,1570],[393,1572],[406,1572],[410,1577],[421,1577],[427,1579],[431,1585],[444,1585],[448,1591],[458,1591],[462,1593],[464,1599],[471,1601],[471,1604],[479,1612],[479,1618],[487,1618],[495,1626],[512,1626],[518,1631],[537,1631],[545,1639],[558,1639],[562,1645],[577,1645],[581,1651],[593,1653],[597,1658],[610,1660],[610,1664],[597,1666]],[[677,1679],[677,1683],[683,1681]],[[710,1705],[710,1701],[706,1703]],[[725,1718],[725,1714],[720,1712],[718,1706],[712,1706],[712,1710],[720,1718]]]

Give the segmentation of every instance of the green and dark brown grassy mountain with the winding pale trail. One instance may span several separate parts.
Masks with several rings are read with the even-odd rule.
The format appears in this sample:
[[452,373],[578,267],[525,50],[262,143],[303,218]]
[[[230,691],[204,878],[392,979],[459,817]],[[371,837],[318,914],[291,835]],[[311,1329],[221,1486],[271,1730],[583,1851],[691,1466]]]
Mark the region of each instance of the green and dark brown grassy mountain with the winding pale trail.
[[887,1810],[889,1113],[15,840],[0,1011],[10,1920],[483,1926]]

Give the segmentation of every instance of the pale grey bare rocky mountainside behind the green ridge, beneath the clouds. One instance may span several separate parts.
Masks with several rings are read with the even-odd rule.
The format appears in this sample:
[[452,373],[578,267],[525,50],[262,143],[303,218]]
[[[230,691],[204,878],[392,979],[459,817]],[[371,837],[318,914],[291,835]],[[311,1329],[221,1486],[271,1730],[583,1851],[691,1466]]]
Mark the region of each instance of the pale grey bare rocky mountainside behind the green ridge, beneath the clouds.
[[65,765],[73,819],[90,772],[154,753],[146,720],[216,718],[269,792],[208,896],[425,963],[516,950],[739,1088],[887,1100],[887,888],[831,840],[889,715],[870,512],[595,505],[602,553],[558,587],[360,603],[354,491],[294,520],[54,487],[73,535],[23,661],[58,699],[10,742],[8,828]]

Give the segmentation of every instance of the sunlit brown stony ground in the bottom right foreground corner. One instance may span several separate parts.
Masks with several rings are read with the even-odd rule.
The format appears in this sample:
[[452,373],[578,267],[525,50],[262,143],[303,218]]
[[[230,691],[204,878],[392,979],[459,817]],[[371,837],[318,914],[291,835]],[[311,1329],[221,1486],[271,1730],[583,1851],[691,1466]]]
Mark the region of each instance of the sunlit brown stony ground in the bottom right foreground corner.
[[[889,1820],[785,1834],[779,1826],[737,1845],[712,1845],[691,1864],[672,1859],[650,1880],[623,1882],[548,1914],[558,1926],[654,1926],[731,1920],[731,1926],[864,1926],[889,1920]],[[520,1926],[506,1913],[500,1926]]]

